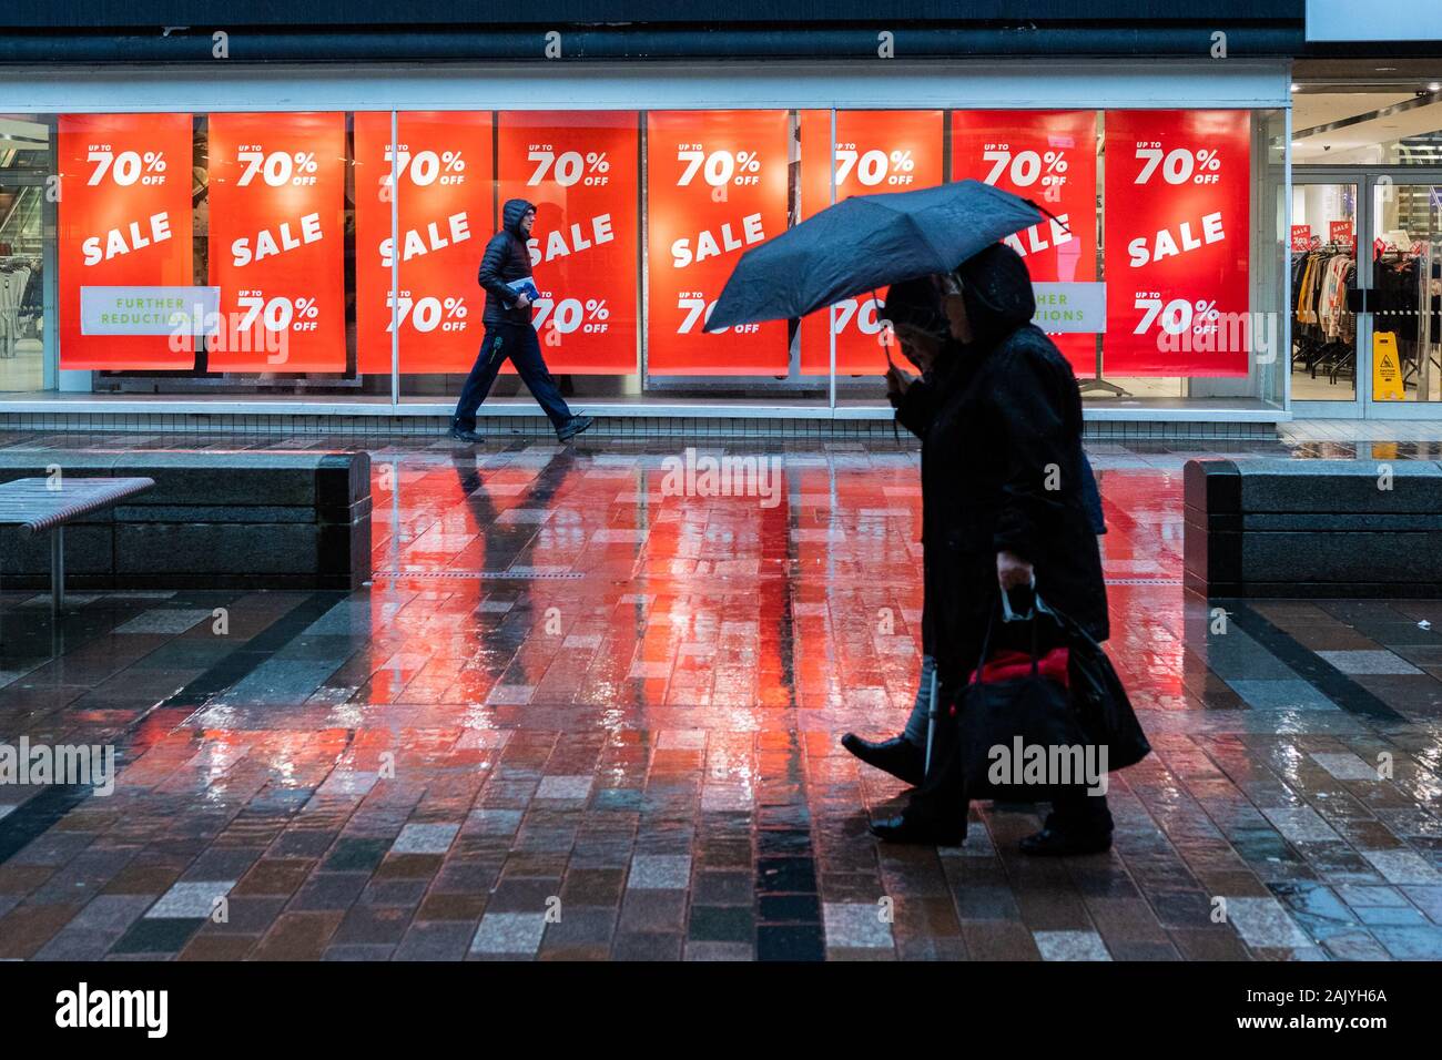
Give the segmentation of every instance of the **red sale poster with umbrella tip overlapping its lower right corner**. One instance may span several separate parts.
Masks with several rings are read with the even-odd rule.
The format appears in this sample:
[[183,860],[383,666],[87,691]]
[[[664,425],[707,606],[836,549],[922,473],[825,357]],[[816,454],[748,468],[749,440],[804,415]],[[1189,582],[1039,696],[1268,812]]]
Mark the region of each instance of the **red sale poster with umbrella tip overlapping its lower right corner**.
[[702,332],[735,262],[786,228],[786,111],[646,115],[647,368],[786,375],[787,324]]

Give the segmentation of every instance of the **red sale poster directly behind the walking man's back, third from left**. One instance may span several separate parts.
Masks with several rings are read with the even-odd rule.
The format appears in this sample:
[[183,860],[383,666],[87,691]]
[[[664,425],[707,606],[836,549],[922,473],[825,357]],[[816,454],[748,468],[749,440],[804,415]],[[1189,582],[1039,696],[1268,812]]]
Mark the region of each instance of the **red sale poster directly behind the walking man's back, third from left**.
[[[476,270],[495,232],[490,111],[397,114],[399,365],[469,372],[482,336]],[[356,366],[391,371],[391,115],[355,115]]]

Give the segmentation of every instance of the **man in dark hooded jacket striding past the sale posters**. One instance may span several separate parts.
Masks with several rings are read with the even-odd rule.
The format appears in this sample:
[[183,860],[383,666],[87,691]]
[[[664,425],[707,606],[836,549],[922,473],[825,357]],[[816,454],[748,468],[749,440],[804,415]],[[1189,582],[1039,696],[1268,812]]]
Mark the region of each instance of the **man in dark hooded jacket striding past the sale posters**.
[[451,437],[459,441],[482,441],[476,433],[476,410],[490,394],[500,362],[510,358],[522,382],[539,402],[555,436],[568,441],[591,425],[591,417],[572,415],[555,387],[541,358],[541,342],[531,326],[531,297],[512,284],[531,278],[531,251],[526,241],[536,219],[536,208],[525,199],[509,199],[500,211],[502,229],[486,244],[476,278],[486,288],[486,312],[482,323],[486,337],[480,343],[476,365],[466,376],[456,414],[451,417]]

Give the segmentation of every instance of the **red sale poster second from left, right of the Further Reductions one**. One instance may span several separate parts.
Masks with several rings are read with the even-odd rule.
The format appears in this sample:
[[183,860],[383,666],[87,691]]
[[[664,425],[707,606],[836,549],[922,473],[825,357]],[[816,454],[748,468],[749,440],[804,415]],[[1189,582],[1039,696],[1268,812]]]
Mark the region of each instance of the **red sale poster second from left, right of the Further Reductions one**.
[[345,114],[211,115],[213,372],[343,372]]

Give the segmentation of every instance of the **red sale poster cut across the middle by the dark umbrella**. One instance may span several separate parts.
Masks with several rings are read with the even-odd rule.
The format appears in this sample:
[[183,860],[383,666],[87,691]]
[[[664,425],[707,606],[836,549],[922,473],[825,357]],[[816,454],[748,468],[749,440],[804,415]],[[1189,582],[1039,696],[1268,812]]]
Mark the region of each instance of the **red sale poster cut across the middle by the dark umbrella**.
[[[831,205],[831,111],[802,111],[802,219]],[[910,192],[943,180],[942,111],[836,111],[836,202],[849,195]],[[877,300],[885,290],[836,304],[836,374],[887,368]],[[829,310],[802,320],[802,372],[831,372]]]

